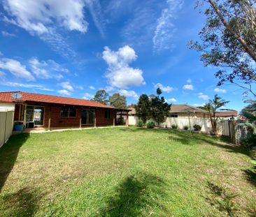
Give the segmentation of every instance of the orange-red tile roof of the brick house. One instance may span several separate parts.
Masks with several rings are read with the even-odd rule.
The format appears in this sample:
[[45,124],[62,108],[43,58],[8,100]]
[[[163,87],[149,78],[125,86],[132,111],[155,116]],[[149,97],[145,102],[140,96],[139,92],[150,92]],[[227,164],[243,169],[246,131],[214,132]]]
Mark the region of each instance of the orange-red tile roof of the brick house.
[[14,99],[11,96],[12,93],[21,93],[22,100],[24,102],[31,101],[37,103],[55,103],[55,104],[64,104],[64,105],[80,105],[80,106],[91,106],[91,107],[106,107],[106,108],[115,108],[110,105],[104,105],[101,103],[97,103],[92,100],[83,100],[79,98],[69,98],[69,97],[62,97],[62,96],[52,96],[52,95],[45,95],[39,93],[28,93],[23,91],[11,91],[11,92],[0,92],[0,103],[14,103]]

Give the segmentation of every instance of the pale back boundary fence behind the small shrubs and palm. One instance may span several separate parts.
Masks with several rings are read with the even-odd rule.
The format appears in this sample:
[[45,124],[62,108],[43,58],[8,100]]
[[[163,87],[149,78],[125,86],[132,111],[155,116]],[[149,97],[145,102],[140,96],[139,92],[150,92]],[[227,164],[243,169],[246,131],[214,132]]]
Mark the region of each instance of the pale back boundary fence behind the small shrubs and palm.
[[[129,116],[129,125],[135,126],[138,124],[138,117]],[[200,119],[190,117],[167,117],[166,121],[161,124],[161,127],[171,128],[172,125],[177,125],[179,129],[183,129],[185,126],[191,127],[193,130],[193,126],[198,124],[201,126],[201,132],[203,133],[211,133],[211,121],[210,119]],[[219,121],[218,122],[218,134],[219,135],[229,135],[229,121]]]

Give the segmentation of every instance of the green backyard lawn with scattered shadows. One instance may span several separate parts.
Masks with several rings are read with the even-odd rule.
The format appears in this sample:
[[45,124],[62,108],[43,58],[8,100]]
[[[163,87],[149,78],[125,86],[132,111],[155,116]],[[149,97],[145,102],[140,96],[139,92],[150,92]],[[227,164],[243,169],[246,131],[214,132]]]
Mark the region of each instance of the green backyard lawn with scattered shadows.
[[248,160],[189,132],[14,135],[0,149],[0,216],[255,216]]

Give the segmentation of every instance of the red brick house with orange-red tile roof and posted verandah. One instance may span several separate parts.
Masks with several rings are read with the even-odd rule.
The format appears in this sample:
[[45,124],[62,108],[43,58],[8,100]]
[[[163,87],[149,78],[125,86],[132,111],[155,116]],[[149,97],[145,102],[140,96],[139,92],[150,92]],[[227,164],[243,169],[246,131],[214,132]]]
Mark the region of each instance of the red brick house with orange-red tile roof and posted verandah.
[[[20,98],[13,98],[12,93],[20,93]],[[109,126],[119,123],[116,117],[124,117],[128,125],[129,110],[92,100],[10,91],[0,92],[1,104],[15,107],[13,121],[24,128]]]

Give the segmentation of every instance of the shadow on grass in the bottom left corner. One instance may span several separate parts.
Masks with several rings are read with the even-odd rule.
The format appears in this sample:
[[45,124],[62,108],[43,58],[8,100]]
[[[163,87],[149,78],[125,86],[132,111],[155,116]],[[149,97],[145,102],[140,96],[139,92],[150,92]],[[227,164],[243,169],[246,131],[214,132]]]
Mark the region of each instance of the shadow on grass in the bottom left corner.
[[3,195],[0,202],[3,206],[4,216],[33,216],[38,209],[41,196],[36,190],[22,188],[16,193]]

